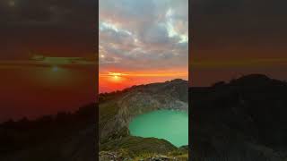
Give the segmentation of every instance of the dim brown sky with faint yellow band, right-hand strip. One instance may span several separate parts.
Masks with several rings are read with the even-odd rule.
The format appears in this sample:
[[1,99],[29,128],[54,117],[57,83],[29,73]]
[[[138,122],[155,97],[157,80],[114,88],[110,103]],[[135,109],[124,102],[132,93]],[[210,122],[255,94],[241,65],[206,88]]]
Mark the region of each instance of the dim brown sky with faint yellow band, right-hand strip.
[[192,0],[192,86],[248,73],[287,80],[285,1]]

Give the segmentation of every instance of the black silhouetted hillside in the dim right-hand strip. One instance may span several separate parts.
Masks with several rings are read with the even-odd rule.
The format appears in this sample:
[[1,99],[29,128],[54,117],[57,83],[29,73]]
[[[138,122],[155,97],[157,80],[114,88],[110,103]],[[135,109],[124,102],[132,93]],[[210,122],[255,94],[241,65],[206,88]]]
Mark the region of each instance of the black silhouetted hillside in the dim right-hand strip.
[[287,83],[251,74],[189,88],[192,158],[287,158]]

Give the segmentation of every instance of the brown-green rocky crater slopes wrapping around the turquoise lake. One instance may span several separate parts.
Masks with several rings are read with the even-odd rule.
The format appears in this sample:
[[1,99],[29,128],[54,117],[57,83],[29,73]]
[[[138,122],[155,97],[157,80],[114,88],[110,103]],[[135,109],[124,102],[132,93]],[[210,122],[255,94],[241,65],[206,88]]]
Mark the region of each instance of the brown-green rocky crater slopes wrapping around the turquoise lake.
[[[152,83],[113,94],[102,94],[99,105],[100,149],[117,151],[124,148],[133,155],[139,155],[136,151],[167,153],[177,149],[166,140],[129,136],[128,123],[136,115],[154,110],[188,111],[187,98],[188,83],[186,80]],[[157,144],[152,144],[155,142]]]

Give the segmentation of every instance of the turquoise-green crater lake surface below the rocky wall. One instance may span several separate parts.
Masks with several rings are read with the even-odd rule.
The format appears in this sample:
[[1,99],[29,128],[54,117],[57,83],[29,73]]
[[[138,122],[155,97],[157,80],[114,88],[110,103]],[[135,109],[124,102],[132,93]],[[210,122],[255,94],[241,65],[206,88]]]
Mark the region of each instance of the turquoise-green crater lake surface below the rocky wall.
[[180,147],[188,145],[188,114],[176,110],[158,110],[136,116],[129,123],[131,135],[159,138]]

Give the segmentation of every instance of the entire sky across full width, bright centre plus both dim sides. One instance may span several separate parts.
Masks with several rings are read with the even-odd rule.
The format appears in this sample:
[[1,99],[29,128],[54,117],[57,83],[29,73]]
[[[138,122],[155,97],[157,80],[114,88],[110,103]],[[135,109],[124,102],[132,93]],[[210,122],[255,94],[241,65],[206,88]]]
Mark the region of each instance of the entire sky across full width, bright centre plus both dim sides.
[[[287,10],[267,0],[1,0],[0,122],[74,110],[100,92],[248,73],[287,80]],[[285,3],[286,4],[286,3]],[[99,27],[99,53],[96,30]],[[188,39],[189,45],[188,56]]]

